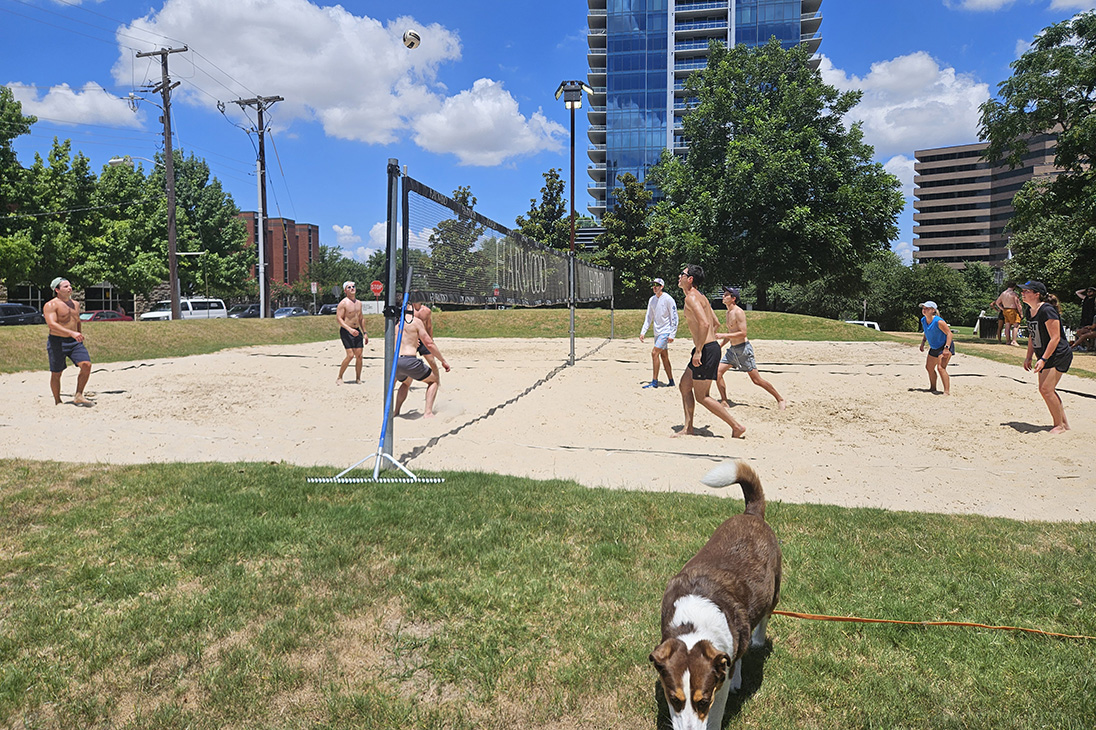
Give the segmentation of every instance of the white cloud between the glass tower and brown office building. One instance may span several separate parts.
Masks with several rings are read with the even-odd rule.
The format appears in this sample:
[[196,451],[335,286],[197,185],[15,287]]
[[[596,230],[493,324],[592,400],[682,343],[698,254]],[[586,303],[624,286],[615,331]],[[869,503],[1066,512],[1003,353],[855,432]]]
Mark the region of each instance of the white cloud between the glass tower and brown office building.
[[979,106],[990,99],[989,84],[943,68],[925,52],[872,64],[864,78],[834,68],[826,56],[820,70],[842,91],[863,90],[849,122],[863,121],[865,140],[880,158],[978,140]]

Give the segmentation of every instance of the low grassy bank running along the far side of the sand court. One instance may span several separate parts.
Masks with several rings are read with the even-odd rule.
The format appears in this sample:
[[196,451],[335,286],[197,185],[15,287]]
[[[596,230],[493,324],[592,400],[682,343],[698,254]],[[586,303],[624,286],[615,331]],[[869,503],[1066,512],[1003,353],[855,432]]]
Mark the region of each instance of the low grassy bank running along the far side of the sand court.
[[[631,338],[643,326],[642,310],[615,312],[616,337]],[[750,312],[750,335],[758,340],[882,340],[880,334],[818,317]],[[436,311],[434,334],[439,338],[566,338],[567,309],[504,309]],[[575,335],[607,338],[610,315],[605,309],[579,309]],[[367,316],[370,338],[384,337],[384,318]],[[88,349],[95,363],[155,357],[182,357],[243,345],[300,344],[338,339],[334,317],[286,319],[214,319],[174,322],[84,322]],[[680,337],[687,338],[684,319]],[[0,373],[46,369],[46,328],[0,327]]]

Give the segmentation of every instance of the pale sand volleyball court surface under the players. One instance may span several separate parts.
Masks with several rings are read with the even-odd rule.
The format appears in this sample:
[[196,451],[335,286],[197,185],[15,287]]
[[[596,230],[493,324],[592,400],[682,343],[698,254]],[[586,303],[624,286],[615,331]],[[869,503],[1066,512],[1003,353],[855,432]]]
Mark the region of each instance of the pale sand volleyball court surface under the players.
[[[579,340],[573,367],[566,366],[566,339],[438,344],[454,369],[443,374],[436,417],[423,418],[416,385],[395,420],[393,453],[412,471],[741,497],[737,487],[699,482],[715,464],[741,458],[757,469],[770,501],[1096,520],[1091,379],[1062,378],[1073,430],[1052,435],[1036,376],[1013,365],[960,349],[945,397],[927,391],[916,346],[758,341],[758,368],[788,409],[731,372],[732,413],[746,437],[732,440],[699,407],[701,435],[674,437],[684,421],[677,389],[641,388],[651,377],[650,340]],[[3,375],[0,457],[285,461],[328,466],[333,476],[377,450],[383,347],[380,339],[366,347],[362,385],[335,385],[343,355],[336,341],[95,365],[93,408],[70,403],[72,367],[56,407],[47,373]],[[94,357],[92,340],[89,349]],[[680,374],[688,346],[677,341],[670,351]],[[372,465],[349,476],[372,476]]]

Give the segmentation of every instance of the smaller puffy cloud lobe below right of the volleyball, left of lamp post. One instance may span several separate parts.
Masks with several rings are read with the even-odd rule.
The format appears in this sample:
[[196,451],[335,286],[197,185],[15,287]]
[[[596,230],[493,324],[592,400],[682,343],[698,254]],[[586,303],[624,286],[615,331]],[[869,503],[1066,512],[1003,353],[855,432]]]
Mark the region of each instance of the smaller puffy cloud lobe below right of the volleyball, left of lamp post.
[[562,149],[567,129],[540,110],[526,118],[502,83],[477,80],[470,90],[445,100],[436,112],[412,124],[423,149],[453,153],[461,164],[494,166],[511,157]]

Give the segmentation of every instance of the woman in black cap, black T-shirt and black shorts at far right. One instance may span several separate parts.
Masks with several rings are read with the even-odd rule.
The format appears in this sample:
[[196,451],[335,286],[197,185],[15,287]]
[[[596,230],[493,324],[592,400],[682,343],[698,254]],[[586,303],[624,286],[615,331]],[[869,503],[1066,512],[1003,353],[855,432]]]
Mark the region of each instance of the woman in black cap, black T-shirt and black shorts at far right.
[[[1047,402],[1051,433],[1070,430],[1062,398],[1058,395],[1058,381],[1070,369],[1073,351],[1062,337],[1062,317],[1058,311],[1058,297],[1047,292],[1042,282],[1025,282],[1020,285],[1020,297],[1028,306],[1028,351],[1024,357],[1024,369],[1039,376],[1039,395]],[[1039,358],[1031,364],[1031,357]]]

